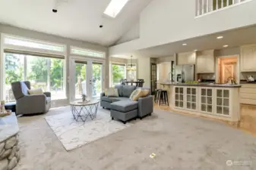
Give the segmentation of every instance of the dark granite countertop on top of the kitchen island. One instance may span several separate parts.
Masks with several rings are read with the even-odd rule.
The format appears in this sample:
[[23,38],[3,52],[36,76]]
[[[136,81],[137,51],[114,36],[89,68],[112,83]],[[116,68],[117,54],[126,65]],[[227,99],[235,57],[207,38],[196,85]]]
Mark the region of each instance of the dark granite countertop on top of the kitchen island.
[[183,85],[183,86],[201,86],[201,87],[220,87],[220,88],[241,88],[241,85],[214,84],[214,83],[175,83],[175,82],[157,82],[160,85]]

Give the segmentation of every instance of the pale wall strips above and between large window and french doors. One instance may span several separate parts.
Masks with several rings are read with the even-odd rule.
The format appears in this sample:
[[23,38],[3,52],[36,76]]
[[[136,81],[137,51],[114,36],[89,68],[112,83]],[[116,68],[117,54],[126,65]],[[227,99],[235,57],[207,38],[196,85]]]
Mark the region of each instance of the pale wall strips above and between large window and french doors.
[[[56,42],[56,43],[61,43],[61,44],[67,45],[67,56],[66,56],[66,65],[65,65],[67,77],[69,76],[69,54],[70,54],[69,47],[70,47],[70,45],[81,47],[81,48],[89,48],[89,49],[96,50],[96,51],[106,52],[106,66],[105,66],[106,69],[105,70],[106,70],[106,73],[109,73],[109,51],[108,51],[108,48],[103,47],[101,45],[94,45],[94,44],[91,44],[90,42],[81,42],[81,41],[77,41],[77,40],[73,40],[73,39],[66,39],[66,38],[63,38],[60,36],[52,36],[52,35],[49,35],[46,33],[31,31],[31,30],[27,30],[27,29],[20,29],[20,28],[14,27],[14,26],[6,26],[3,24],[0,24],[0,33],[26,37],[29,39],[43,40],[46,42],[53,42],[53,43]],[[0,45],[1,45],[1,43],[0,43]],[[0,49],[2,49],[2,48],[0,47]],[[3,54],[3,51],[0,51],[0,61],[1,62],[2,62],[2,54]],[[2,66],[2,63],[1,63],[1,66]],[[1,72],[1,70],[0,70],[0,72]],[[2,73],[0,73],[0,75],[2,75]],[[106,78],[105,78],[106,87],[109,87],[108,75],[109,74],[106,74]],[[0,85],[0,87],[1,86],[2,85]],[[68,81],[66,81],[65,88],[67,89],[66,90],[67,97],[69,97]],[[0,96],[2,96],[2,95],[0,95]],[[56,106],[58,106],[58,105],[59,104],[56,103]]]

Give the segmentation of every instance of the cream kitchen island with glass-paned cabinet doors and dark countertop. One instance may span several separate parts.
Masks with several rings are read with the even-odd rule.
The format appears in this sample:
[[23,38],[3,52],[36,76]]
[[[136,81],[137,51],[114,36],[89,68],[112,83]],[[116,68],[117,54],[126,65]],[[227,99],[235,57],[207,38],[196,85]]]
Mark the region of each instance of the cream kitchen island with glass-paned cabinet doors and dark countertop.
[[239,122],[239,88],[241,85],[211,83],[164,83],[172,110]]

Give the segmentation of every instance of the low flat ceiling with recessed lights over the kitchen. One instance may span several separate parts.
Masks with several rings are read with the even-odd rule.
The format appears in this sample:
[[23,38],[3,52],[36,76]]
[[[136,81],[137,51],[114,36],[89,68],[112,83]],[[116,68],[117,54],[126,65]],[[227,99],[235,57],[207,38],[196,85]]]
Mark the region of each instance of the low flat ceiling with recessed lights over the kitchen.
[[[223,36],[223,39],[216,39],[217,36]],[[137,41],[137,40],[136,40]],[[137,42],[138,44],[140,42]],[[187,44],[183,46],[182,44]],[[224,49],[223,45],[229,45],[228,48],[238,48],[242,45],[256,44],[256,25],[243,27],[240,29],[231,29],[224,32],[185,39],[179,42],[172,42],[165,45],[144,48],[137,51],[129,51],[120,54],[110,54],[112,57],[129,59],[132,55],[134,58],[144,57],[169,57],[175,53],[189,51],[205,51],[211,49]]]

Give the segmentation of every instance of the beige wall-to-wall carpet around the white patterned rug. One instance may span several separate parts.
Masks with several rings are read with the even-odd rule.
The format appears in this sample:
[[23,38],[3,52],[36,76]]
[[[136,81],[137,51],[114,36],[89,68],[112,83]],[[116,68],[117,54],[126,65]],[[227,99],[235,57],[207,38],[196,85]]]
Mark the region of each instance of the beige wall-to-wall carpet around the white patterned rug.
[[[153,116],[67,152],[44,117],[21,117],[21,162],[15,170],[249,170],[256,138],[221,122],[154,110]],[[156,153],[155,159],[149,157]],[[252,165],[227,166],[227,160]]]

